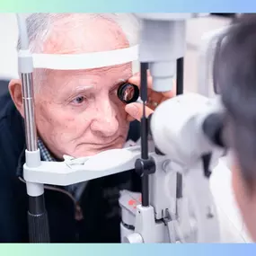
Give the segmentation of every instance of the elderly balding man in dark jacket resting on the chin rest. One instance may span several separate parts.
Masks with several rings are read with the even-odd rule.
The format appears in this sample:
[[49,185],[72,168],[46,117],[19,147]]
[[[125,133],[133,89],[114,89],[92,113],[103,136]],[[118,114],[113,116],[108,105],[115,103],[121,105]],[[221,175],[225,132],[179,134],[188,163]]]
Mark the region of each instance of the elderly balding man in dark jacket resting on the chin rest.
[[[125,20],[124,20],[125,19]],[[115,14],[36,13],[27,19],[33,53],[75,54],[128,48],[137,21]],[[123,23],[123,28],[119,25]],[[135,41],[135,40],[134,40]],[[116,91],[124,82],[139,85],[131,63],[90,70],[34,73],[38,145],[44,161],[61,161],[121,148],[137,140],[141,106],[125,106]],[[149,86],[150,86],[149,77]],[[22,179],[25,133],[21,80],[12,80],[1,100],[0,242],[28,242],[26,186]],[[11,96],[11,97],[10,97]],[[172,94],[155,94],[162,101]],[[150,106],[148,106],[150,107]],[[147,109],[147,111],[151,111]],[[119,190],[139,190],[133,172],[111,175],[71,187],[45,186],[51,241],[118,243]]]

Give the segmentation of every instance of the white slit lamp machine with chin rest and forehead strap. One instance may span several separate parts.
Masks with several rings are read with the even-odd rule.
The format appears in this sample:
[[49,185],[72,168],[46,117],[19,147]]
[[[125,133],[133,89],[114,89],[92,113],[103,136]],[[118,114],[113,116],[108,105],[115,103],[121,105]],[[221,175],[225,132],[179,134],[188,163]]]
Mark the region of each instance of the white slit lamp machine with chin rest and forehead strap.
[[[141,22],[139,45],[128,49],[81,55],[31,54],[25,19],[17,14],[21,49],[18,53],[22,79],[26,162],[23,166],[29,197],[31,243],[50,243],[44,184],[71,185],[135,169],[142,181],[141,193],[120,192],[122,243],[219,243],[216,206],[209,188],[209,176],[225,146],[219,139],[223,107],[218,97],[207,95],[208,66],[217,31],[203,40],[200,49],[199,94],[183,93],[183,57],[186,22],[198,13],[135,13]],[[99,57],[101,54],[101,57]],[[144,115],[140,145],[114,149],[90,157],[64,157],[64,161],[40,160],[35,126],[34,68],[86,69],[140,63]],[[153,90],[172,90],[177,96],[157,106],[146,117],[146,70],[153,77]],[[120,95],[123,91],[119,91]],[[128,94],[127,94],[128,95]],[[132,202],[132,203],[128,203]]]

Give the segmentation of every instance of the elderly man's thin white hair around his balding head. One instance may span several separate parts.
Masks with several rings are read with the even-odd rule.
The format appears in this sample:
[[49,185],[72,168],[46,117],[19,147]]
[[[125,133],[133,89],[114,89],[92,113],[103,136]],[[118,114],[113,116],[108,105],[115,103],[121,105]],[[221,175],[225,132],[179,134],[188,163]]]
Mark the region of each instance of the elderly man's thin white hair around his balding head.
[[[72,22],[72,16],[75,17],[77,14],[79,14],[81,18],[84,16],[92,16],[116,22],[124,32],[129,46],[137,44],[139,21],[132,13],[30,13],[26,15],[26,24],[31,52],[43,52],[44,43],[49,38],[54,22],[66,17],[70,17],[70,21]],[[18,40],[17,49],[21,49],[20,38]],[[40,74],[42,73],[40,72]],[[38,72],[34,72],[34,80],[36,80],[36,84],[41,84],[42,77],[39,79]]]

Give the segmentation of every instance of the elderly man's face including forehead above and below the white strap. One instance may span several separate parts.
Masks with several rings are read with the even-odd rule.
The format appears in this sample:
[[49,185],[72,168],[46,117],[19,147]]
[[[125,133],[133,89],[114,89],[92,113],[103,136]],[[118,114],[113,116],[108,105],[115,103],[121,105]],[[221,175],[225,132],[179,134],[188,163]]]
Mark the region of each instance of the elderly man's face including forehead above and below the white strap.
[[[124,34],[112,22],[87,20],[76,25],[72,28],[72,23],[56,23],[44,52],[66,54],[128,47]],[[131,64],[47,72],[35,94],[35,108],[39,135],[52,154],[58,158],[63,154],[80,157],[122,147],[128,121],[116,92],[119,84],[131,76]]]

